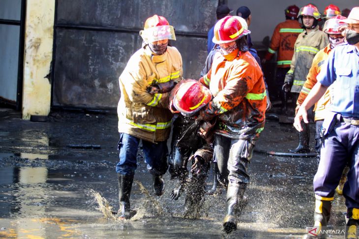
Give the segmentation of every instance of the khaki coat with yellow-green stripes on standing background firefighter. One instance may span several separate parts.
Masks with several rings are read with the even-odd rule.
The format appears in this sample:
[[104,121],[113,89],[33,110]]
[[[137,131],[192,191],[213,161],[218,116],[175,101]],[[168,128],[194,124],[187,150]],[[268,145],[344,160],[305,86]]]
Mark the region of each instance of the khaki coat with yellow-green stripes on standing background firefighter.
[[315,27],[309,34],[303,31],[299,34],[294,44],[294,55],[291,62],[291,69],[288,73],[293,73],[294,81],[291,92],[299,93],[303,86],[312,61],[316,53],[329,44],[326,33]]

